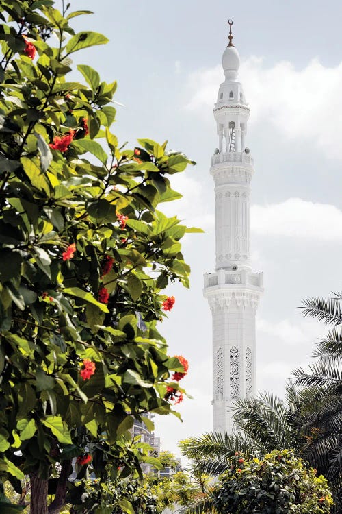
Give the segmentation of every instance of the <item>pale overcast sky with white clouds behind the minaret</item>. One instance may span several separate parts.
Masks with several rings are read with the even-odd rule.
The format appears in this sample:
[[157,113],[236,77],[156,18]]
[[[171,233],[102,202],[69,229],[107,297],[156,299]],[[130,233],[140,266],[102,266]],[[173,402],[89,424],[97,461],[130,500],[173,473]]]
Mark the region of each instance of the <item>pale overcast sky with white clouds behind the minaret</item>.
[[[326,328],[304,319],[302,298],[341,291],[342,45],[340,0],[71,0],[94,10],[74,26],[103,32],[105,47],[78,62],[118,80],[116,133],[168,139],[198,163],[177,176],[183,199],[172,205],[188,225],[184,253],[191,289],[176,285],[162,326],[170,354],[189,360],[183,381],[194,400],[176,417],[158,417],[163,448],[211,430],[211,313],[202,275],[214,270],[214,193],[210,158],[218,146],[213,103],[224,79],[221,56],[234,21],[240,79],[250,105],[246,145],[254,158],[252,256],[264,272],[257,313],[257,384],[283,394],[291,369],[308,362]],[[80,5],[81,4],[81,5]],[[171,206],[170,206],[171,207]]]

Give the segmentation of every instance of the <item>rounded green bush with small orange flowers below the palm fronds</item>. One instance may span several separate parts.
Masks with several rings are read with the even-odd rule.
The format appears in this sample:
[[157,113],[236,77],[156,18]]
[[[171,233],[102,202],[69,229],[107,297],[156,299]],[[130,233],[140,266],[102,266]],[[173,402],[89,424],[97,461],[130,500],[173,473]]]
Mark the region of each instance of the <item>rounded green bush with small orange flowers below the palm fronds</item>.
[[[274,451],[248,460],[237,452],[209,498],[189,513],[323,514],[332,496],[324,476],[316,476],[291,450]],[[206,510],[201,510],[201,509]]]

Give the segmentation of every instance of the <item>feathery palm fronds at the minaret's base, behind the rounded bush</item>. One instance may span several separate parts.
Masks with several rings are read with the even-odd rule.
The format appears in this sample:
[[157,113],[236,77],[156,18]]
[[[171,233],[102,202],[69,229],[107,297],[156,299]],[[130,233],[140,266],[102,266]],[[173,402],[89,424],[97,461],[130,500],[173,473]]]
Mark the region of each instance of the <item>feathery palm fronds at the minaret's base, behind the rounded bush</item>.
[[235,430],[232,434],[211,432],[181,441],[182,453],[196,461],[198,469],[218,476],[230,468],[235,452],[261,456],[274,448],[293,448],[300,455],[304,443],[298,428],[300,402],[293,386],[286,399],[271,393],[235,400]]

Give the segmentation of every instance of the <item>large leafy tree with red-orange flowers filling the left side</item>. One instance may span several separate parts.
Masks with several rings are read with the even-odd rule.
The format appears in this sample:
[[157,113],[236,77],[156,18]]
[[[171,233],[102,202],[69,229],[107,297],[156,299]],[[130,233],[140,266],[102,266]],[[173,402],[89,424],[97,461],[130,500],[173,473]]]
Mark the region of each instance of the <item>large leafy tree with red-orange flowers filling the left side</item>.
[[194,163],[153,140],[120,147],[116,83],[85,65],[85,83],[66,80],[73,53],[107,42],[70,27],[88,12],[0,5],[0,476],[21,493],[28,475],[31,514],[58,513],[81,503],[88,467],[99,491],[139,472],[134,419],[151,428],[144,413],[183,398],[187,363],[157,322],[174,305],[161,290],[188,286],[179,240],[196,229],[156,208]]

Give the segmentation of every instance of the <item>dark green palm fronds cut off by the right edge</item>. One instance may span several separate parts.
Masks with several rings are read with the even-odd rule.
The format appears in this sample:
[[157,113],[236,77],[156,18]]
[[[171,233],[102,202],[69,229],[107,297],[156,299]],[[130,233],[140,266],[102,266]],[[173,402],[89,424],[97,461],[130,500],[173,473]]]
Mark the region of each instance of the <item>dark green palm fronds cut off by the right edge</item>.
[[342,295],[304,301],[304,315],[334,328],[319,341],[315,362],[308,371],[296,369],[294,383],[303,405],[302,430],[305,458],[328,478],[337,509],[342,512]]

